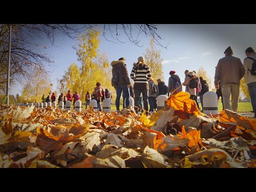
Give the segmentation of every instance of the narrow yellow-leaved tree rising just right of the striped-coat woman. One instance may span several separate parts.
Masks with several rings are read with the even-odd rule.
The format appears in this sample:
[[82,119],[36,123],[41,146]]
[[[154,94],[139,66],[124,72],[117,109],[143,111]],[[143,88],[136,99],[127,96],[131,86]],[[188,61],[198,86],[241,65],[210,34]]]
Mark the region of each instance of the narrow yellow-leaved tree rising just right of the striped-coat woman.
[[156,49],[156,45],[154,44],[153,38],[150,39],[149,48],[146,49],[146,53],[143,54],[145,57],[146,64],[148,65],[151,76],[155,79],[162,79],[163,81],[163,65],[161,58],[161,50]]

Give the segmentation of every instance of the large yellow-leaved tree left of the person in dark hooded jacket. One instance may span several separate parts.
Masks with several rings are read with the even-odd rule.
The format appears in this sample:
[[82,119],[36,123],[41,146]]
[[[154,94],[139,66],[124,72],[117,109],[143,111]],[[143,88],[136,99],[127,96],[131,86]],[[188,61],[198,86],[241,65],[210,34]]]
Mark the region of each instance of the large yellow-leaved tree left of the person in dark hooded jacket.
[[92,94],[97,82],[100,82],[104,89],[115,93],[114,87],[111,86],[112,74],[108,56],[106,53],[99,54],[100,33],[100,31],[90,29],[85,36],[79,38],[78,46],[73,48],[76,50],[81,66],[72,63],[59,79],[61,92],[77,91],[82,102],[85,101],[87,91]]

